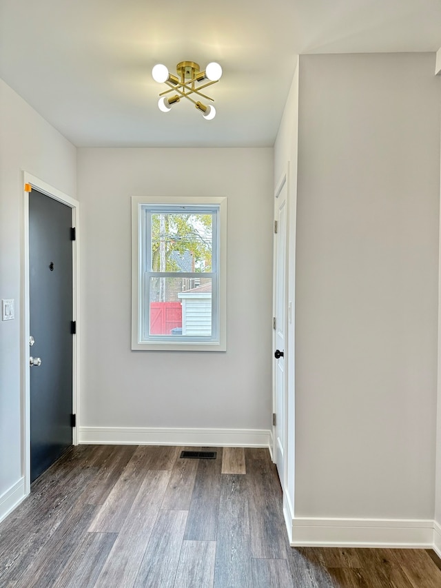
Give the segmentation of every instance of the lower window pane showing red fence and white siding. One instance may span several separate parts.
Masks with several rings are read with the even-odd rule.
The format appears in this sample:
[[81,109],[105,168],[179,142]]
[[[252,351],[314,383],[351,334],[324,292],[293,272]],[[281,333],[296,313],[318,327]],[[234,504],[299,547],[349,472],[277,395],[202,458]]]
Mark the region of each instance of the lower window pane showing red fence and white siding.
[[150,277],[150,335],[212,336],[212,278]]

